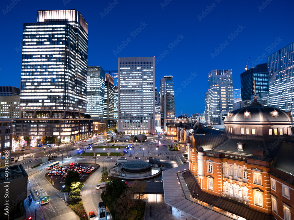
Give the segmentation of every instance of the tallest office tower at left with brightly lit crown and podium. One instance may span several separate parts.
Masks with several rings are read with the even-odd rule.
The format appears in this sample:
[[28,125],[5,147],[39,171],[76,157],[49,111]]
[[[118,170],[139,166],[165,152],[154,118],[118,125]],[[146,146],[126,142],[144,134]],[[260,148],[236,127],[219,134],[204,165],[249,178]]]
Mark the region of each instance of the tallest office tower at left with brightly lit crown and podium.
[[[55,132],[52,131],[52,124],[47,126],[55,123],[54,119],[84,117],[87,60],[88,24],[79,11],[38,11],[36,23],[24,24],[21,117],[26,118],[25,121],[27,118],[52,119],[41,120],[44,122],[41,122],[40,128],[36,124],[36,130],[30,132],[30,137],[40,138],[44,133],[45,136],[60,136],[61,140],[70,141],[74,136],[89,136],[90,120],[67,120],[73,126],[55,129]],[[30,123],[39,123],[37,121],[39,120],[31,120]],[[56,126],[65,123],[64,121],[56,120]],[[16,122],[16,128],[18,123],[21,126],[22,121]]]

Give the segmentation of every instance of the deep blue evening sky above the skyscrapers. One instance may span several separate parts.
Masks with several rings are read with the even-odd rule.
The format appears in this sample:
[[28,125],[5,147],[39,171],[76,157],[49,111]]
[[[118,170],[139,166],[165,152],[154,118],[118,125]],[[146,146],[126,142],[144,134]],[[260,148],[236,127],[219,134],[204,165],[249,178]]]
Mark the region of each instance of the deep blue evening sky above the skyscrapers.
[[[117,4],[102,18],[100,13],[113,2]],[[7,5],[13,8],[8,11]],[[23,23],[35,23],[37,10],[76,9],[88,23],[88,65],[117,69],[118,57],[157,59],[167,50],[155,68],[156,86],[164,75],[173,75],[175,91],[181,90],[175,97],[176,116],[181,112],[203,113],[208,73],[212,69],[232,69],[233,86],[238,89],[248,57],[248,66],[253,66],[258,57],[264,63],[263,53],[268,56],[294,41],[293,6],[289,0],[2,0],[0,86],[20,86]],[[205,10],[209,13],[203,14]],[[198,17],[202,15],[203,18]],[[132,32],[144,22],[146,26],[134,35]],[[235,31],[240,32],[237,35]],[[234,32],[234,37],[229,36]],[[178,35],[184,38],[173,47],[171,43],[180,40]],[[131,42],[115,56],[113,50],[127,38]],[[212,58],[211,53],[220,44],[225,48]],[[272,44],[275,48],[268,48]],[[194,72],[197,76],[186,81]]]

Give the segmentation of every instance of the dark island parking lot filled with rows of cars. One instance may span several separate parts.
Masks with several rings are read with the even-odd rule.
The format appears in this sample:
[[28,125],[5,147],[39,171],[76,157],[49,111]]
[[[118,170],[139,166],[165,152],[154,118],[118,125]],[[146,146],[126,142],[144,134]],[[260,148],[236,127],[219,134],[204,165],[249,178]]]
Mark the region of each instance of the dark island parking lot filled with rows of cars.
[[[95,169],[92,168],[92,170],[91,170],[91,168],[88,169],[88,167],[95,167]],[[62,189],[62,186],[64,185],[64,181],[65,181],[64,173],[67,173],[67,170],[68,169],[66,169],[65,172],[59,172],[59,171],[57,171],[57,174],[51,175],[52,172],[54,172],[56,170],[60,170],[59,168],[60,167],[58,167],[58,168],[56,168],[54,170],[51,170],[50,175],[48,175],[48,172],[47,172],[46,175],[48,175],[49,178],[51,178],[52,183],[54,183],[53,184],[54,188],[60,191]],[[68,168],[68,167],[66,167],[66,168]],[[80,175],[80,181],[83,182],[83,180],[86,179],[88,175],[90,175],[92,172],[95,172],[97,170],[98,165],[93,165],[93,164],[79,164],[79,166],[74,166],[74,167],[72,166],[72,167],[69,167],[69,168],[74,168],[74,169],[77,168],[76,171],[79,171],[78,173]],[[86,172],[84,170],[86,170]],[[91,170],[91,171],[89,171],[89,170]]]

